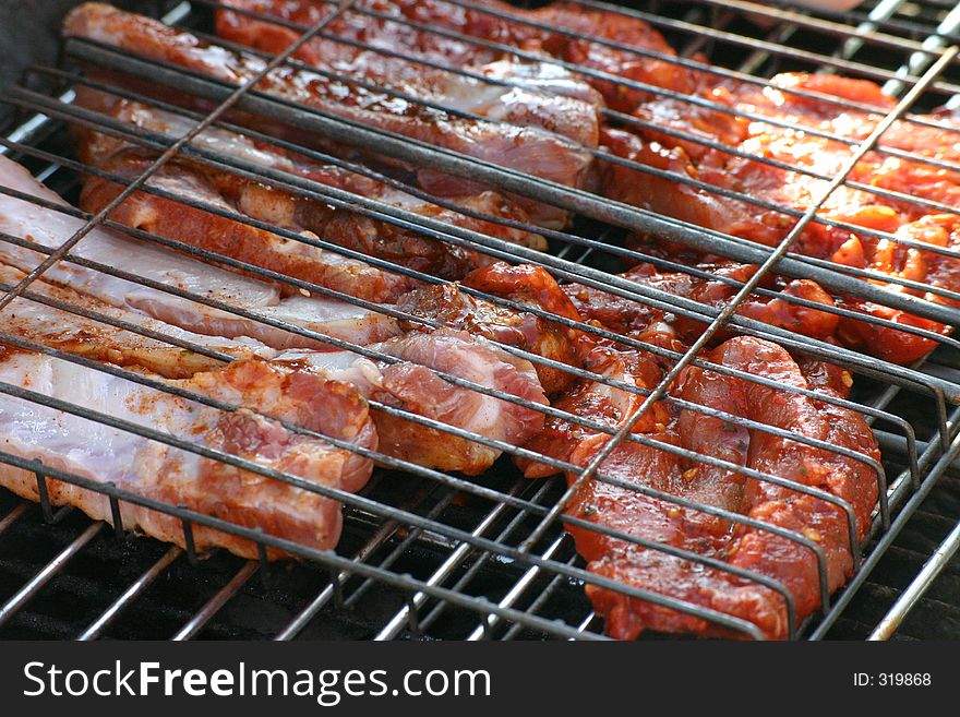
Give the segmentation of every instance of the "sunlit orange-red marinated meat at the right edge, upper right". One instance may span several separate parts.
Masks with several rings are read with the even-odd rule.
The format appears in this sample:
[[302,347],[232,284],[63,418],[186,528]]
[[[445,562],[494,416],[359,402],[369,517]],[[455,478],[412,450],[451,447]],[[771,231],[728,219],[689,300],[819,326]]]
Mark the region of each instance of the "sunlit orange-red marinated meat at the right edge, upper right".
[[[804,97],[797,92],[818,93],[824,99]],[[763,89],[747,83],[728,82],[705,85],[694,95],[715,103],[718,109],[699,107],[686,111],[684,101],[655,97],[641,103],[635,113],[657,128],[719,142],[745,156],[682,140],[657,129],[638,130],[639,136],[622,130],[605,130],[604,143],[614,154],[672,172],[677,179],[611,163],[601,170],[604,192],[613,199],[768,246],[781,241],[797,216],[820,199],[829,182],[826,178],[842,170],[853,152],[852,145],[865,140],[895,104],[869,82],[789,73],[773,77],[771,86]],[[850,108],[843,101],[866,104],[876,110]],[[748,120],[739,112],[759,115],[771,121]],[[924,156],[939,162],[950,160],[951,147],[960,135],[956,123],[948,117],[920,119],[934,124],[896,122],[880,138],[878,150],[867,153],[853,166],[849,182],[857,182],[861,187],[848,183],[833,190],[818,212],[818,217],[828,223],[809,223],[793,242],[793,251],[872,271],[878,282],[889,278],[888,287],[895,291],[921,294],[896,283],[903,278],[937,289],[956,291],[960,288],[956,279],[960,273],[958,244],[946,226],[955,224],[946,212],[960,208],[960,175],[923,160]],[[811,131],[804,132],[803,129]],[[814,132],[828,133],[837,139],[817,136]],[[913,139],[914,134],[919,134],[922,141]],[[896,147],[916,152],[920,145],[925,150],[917,153],[917,159],[893,156],[884,151],[885,147]],[[775,160],[793,169],[772,166],[765,160]],[[707,187],[683,183],[684,179],[704,182]],[[864,187],[891,190],[900,195],[876,193]],[[724,196],[711,188],[739,192],[752,200]],[[829,223],[842,223],[853,229]],[[934,224],[940,224],[940,229],[936,230]],[[857,232],[856,227],[892,235],[893,238]],[[904,239],[917,244],[907,247],[901,243]],[[935,292],[928,292],[924,298],[950,302]],[[897,324],[937,334],[949,332],[944,324],[888,307],[852,297],[838,300],[845,308]],[[842,342],[899,363],[909,363],[936,346],[932,338],[892,327],[877,327],[849,319],[842,323],[838,333]]]

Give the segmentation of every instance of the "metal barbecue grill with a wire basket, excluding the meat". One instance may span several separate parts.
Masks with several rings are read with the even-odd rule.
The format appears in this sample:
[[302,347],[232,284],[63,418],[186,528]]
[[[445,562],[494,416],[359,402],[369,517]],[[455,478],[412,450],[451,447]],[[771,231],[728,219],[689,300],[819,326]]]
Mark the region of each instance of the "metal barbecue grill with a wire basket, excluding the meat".
[[[452,7],[460,9],[475,8],[470,0],[447,1]],[[131,4],[137,12],[191,28],[201,36],[212,32],[212,13],[218,7],[213,0]],[[867,142],[855,145],[848,141],[852,159],[863,156],[877,142],[883,143],[881,130],[885,124],[898,118],[923,123],[927,120],[913,112],[941,105],[952,106],[956,98],[960,97],[960,63],[956,61],[960,51],[960,8],[946,0],[881,0],[877,3],[867,2],[844,13],[805,10],[787,3],[755,4],[736,0],[651,1],[637,3],[638,9],[633,8],[634,3],[623,3],[624,7],[614,8],[581,0],[580,4],[615,9],[647,21],[677,49],[676,58],[657,59],[688,68],[710,69],[720,77],[734,77],[763,86],[767,83],[765,79],[776,72],[817,70],[865,77],[884,84],[900,103]],[[286,23],[286,26],[302,33],[302,39],[305,40],[324,34],[331,20],[348,12],[356,12],[361,16],[377,16],[374,11],[356,9],[347,0],[332,2],[327,20],[316,26],[296,26],[291,23]],[[495,14],[497,11],[489,12]],[[283,24],[283,21],[276,19],[262,19]],[[53,23],[58,21],[59,16],[51,19]],[[466,37],[441,28],[428,29],[460,41],[497,48],[492,39]],[[563,28],[554,29],[563,32]],[[47,28],[43,32],[47,32]],[[590,39],[631,50],[627,46],[619,46],[610,40]],[[212,41],[229,47],[221,39]],[[841,591],[832,596],[824,595],[823,609],[807,619],[800,629],[792,631],[791,636],[887,638],[896,633],[898,636],[960,637],[960,611],[956,607],[960,605],[960,565],[950,562],[960,545],[960,531],[956,528],[957,516],[960,515],[960,474],[953,465],[960,452],[960,438],[957,435],[960,428],[960,408],[957,407],[960,404],[960,343],[952,337],[932,335],[939,345],[932,356],[910,367],[898,367],[735,315],[735,303],[724,310],[717,310],[620,279],[613,272],[620,271],[620,262],[623,260],[639,260],[668,271],[696,273],[696,270],[627,248],[624,237],[628,230],[633,230],[662,236],[739,261],[761,264],[760,273],[748,286],[761,296],[769,296],[771,292],[757,288],[757,282],[763,275],[776,272],[813,278],[835,291],[864,298],[877,297],[888,306],[947,324],[960,324],[960,312],[957,309],[877,288],[862,280],[867,275],[863,271],[795,255],[790,251],[789,241],[776,249],[759,247],[617,204],[591,192],[552,184],[451,151],[385,135],[383,132],[324,116],[305,107],[278,101],[245,87],[238,89],[224,86],[173,67],[135,55],[120,53],[107,46],[69,39],[57,62],[52,60],[53,48],[49,43],[43,49],[47,53],[41,59],[43,63],[25,67],[22,76],[11,82],[2,95],[2,111],[5,115],[0,113],[0,118],[9,119],[7,131],[0,140],[0,152],[23,163],[38,179],[68,201],[76,199],[83,172],[106,176],[103,170],[85,166],[75,158],[68,130],[71,127],[97,128],[105,133],[163,153],[165,159],[178,152],[190,152],[194,158],[211,166],[227,168],[241,176],[255,176],[268,184],[292,189],[334,206],[399,226],[413,226],[427,236],[455,244],[477,247],[499,259],[543,266],[562,280],[587,284],[613,296],[634,298],[663,308],[680,316],[703,320],[710,326],[708,333],[722,328],[767,337],[790,350],[824,358],[844,367],[854,375],[854,392],[850,399],[838,398],[829,403],[856,410],[874,429],[884,456],[883,465],[877,466],[880,499],[867,540],[863,545],[855,545],[855,574]],[[297,65],[298,62],[290,59],[295,49],[291,47],[283,56],[271,59],[271,63],[276,65],[286,62]],[[523,50],[503,49],[512,49],[524,57]],[[635,51],[640,57],[651,55],[647,50]],[[8,52],[14,60],[20,57],[16,48],[8,48]],[[703,56],[709,58],[710,65],[704,64]],[[424,64],[430,62],[424,61]],[[81,65],[109,69],[199,95],[209,100],[216,109],[197,113],[167,107],[196,120],[194,131],[182,138],[147,133],[72,103],[74,91],[82,85],[106,89],[121,97],[141,98],[135,92],[122,86],[105,86],[91,80],[80,69]],[[463,72],[456,68],[443,69]],[[599,72],[577,65],[569,65],[568,69],[588,75],[597,75]],[[615,80],[636,89],[667,92],[639,82]],[[490,79],[484,81],[500,82]],[[383,92],[389,94],[389,91]],[[803,94],[803,91],[797,92]],[[679,98],[692,104],[705,101],[691,96]],[[405,99],[418,101],[411,97]],[[164,107],[156,99],[145,101]],[[842,105],[844,100],[832,98],[831,101]],[[855,107],[855,103],[850,103],[850,106]],[[242,162],[227,155],[191,147],[190,140],[203,129],[230,127],[224,118],[229,107],[281,118],[299,129],[327,134],[349,146],[362,147],[375,143],[379,152],[405,163],[433,166],[454,176],[481,180],[515,194],[569,208],[576,213],[576,220],[571,229],[564,231],[523,226],[521,228],[542,234],[549,239],[550,251],[540,253],[476,231],[427,219],[376,200],[350,195],[309,180],[298,180],[280,171],[243,166]],[[605,111],[610,119],[626,126],[641,122],[614,110]],[[660,131],[671,132],[662,128]],[[267,134],[251,130],[243,132],[263,142],[283,143]],[[339,162],[304,147],[297,148],[324,162]],[[601,159],[626,162],[610,155],[603,156],[602,151],[597,151],[597,154]],[[936,158],[916,157],[909,153],[903,155],[944,169],[955,169],[949,163]],[[754,158],[758,162],[775,162],[763,157]],[[360,172],[373,171],[363,166],[351,167]],[[852,162],[849,167],[852,167]],[[640,169],[658,171],[651,168]],[[124,195],[134,190],[164,195],[163,190],[146,184],[146,174],[133,182],[118,177],[110,178],[127,186]],[[679,177],[671,178],[684,181]],[[830,190],[847,181],[845,175],[821,179],[829,182]],[[389,181],[415,195],[422,195],[420,190],[409,187],[403,179]],[[701,189],[717,191],[706,184]],[[0,188],[0,192],[9,191]],[[885,192],[879,189],[871,191],[878,194]],[[183,201],[182,198],[167,196]],[[430,199],[437,202],[435,198]],[[737,199],[749,202],[753,198]],[[820,196],[816,205],[803,213],[780,207],[784,215],[796,219],[791,236],[795,236],[808,223],[829,222],[817,215],[817,210],[826,199],[826,194]],[[923,203],[921,200],[917,202]],[[204,207],[202,202],[195,204]],[[205,208],[230,219],[263,226],[223,208]],[[293,288],[362,303],[321,286],[277,276],[144,231],[124,229],[112,223],[107,215],[106,211],[96,216],[77,213],[77,216],[87,219],[87,227],[104,225],[118,228],[141,240],[173,247],[201,259],[213,259],[272,280],[287,283]],[[494,217],[485,218],[499,220]],[[860,228],[857,230],[863,231]],[[283,231],[279,234],[287,236]],[[288,234],[289,238],[298,239],[297,235]],[[880,232],[875,234],[883,236]],[[75,237],[75,241],[83,241],[81,235]],[[14,238],[0,236],[0,240],[13,241]],[[68,246],[50,252],[44,267],[64,256],[70,258],[73,243],[68,242]],[[352,255],[427,283],[439,282],[433,276],[377,258],[351,254],[349,250],[324,242],[323,237],[317,239],[317,243],[332,252]],[[122,275],[130,280],[146,282],[136,275],[135,267],[118,272],[75,256],[72,261]],[[910,285],[908,279],[893,282]],[[733,280],[731,283],[737,288],[745,286]],[[181,289],[167,286],[155,288],[179,294],[207,306],[213,303],[205,297],[192,296]],[[31,291],[28,283],[0,286],[0,311],[17,296],[37,296]],[[925,287],[925,290],[950,298],[947,290],[934,287]],[[501,306],[520,308],[494,296],[479,291],[472,294]],[[803,303],[803,299],[799,298],[788,300]],[[59,308],[71,310],[69,306]],[[219,308],[237,311],[228,307]],[[73,310],[76,311],[75,308]],[[537,310],[525,310],[538,313]],[[403,312],[387,311],[416,320],[403,316]],[[836,308],[831,311],[843,310]],[[539,312],[539,315],[577,325],[577,322],[545,312]],[[103,320],[106,321],[106,318]],[[884,324],[886,320],[872,321]],[[280,327],[332,346],[364,354],[362,347],[315,335],[297,326],[280,324]],[[609,333],[595,326],[579,327],[599,335]],[[924,334],[923,330],[914,330],[913,333],[929,335],[928,332]],[[611,337],[631,345],[632,339]],[[0,339],[32,350],[43,349],[65,360],[83,360],[11,336],[0,335]],[[176,339],[171,339],[171,343],[181,345]],[[634,344],[640,348],[650,348],[635,340]],[[201,347],[184,348],[205,352]],[[703,363],[697,358],[696,347],[685,354],[656,350],[672,362],[671,374],[692,362]],[[513,352],[516,354],[517,350],[513,349]],[[535,363],[547,361],[536,356],[526,358]],[[134,372],[112,367],[109,370],[142,382],[142,377]],[[588,371],[578,372],[598,379]],[[466,382],[455,377],[444,378],[466,385]],[[599,379],[602,380],[602,377]],[[765,381],[756,377],[751,380]],[[468,387],[505,401],[520,401],[489,387]],[[95,414],[88,407],[67,405],[41,393],[2,383],[0,392],[144,434],[142,428],[120,425],[116,419]],[[661,391],[653,393],[653,397],[659,397]],[[550,410],[540,406],[533,407]],[[429,421],[413,415],[407,417],[413,421]],[[730,420],[749,425],[749,421],[735,417]],[[526,480],[509,457],[526,455],[548,463],[550,459],[512,445],[497,444],[454,427],[436,428],[452,435],[502,449],[504,455],[482,476],[465,478],[373,454],[380,466],[370,485],[358,495],[334,493],[345,505],[344,535],[335,552],[317,551],[182,506],[146,501],[111,485],[85,480],[0,451],[0,461],[36,474],[40,498],[39,504],[28,503],[0,490],[0,636],[81,640],[171,636],[175,640],[602,637],[602,620],[592,612],[590,602],[584,595],[585,583],[597,584],[602,583],[602,579],[585,570],[583,560],[574,550],[571,536],[563,529],[563,509],[569,498],[566,482],[560,477],[540,481]],[[751,428],[775,430],[752,425]],[[645,440],[631,437],[628,429],[607,432],[612,434],[609,444],[611,449],[624,440]],[[197,451],[195,445],[180,445],[170,437],[149,438],[188,451]],[[816,445],[812,439],[795,440]],[[661,447],[680,452],[691,459],[706,463],[712,461],[715,465],[722,465],[710,456],[675,446]],[[228,455],[216,457],[228,462],[237,461]],[[586,469],[567,467],[576,470],[581,480],[588,479],[593,473],[597,473],[598,479],[604,479],[602,466],[599,471],[597,466]],[[271,475],[255,466],[251,469]],[[293,479],[290,476],[274,477],[288,481]],[[766,475],[753,477],[761,480],[778,479]],[[74,482],[109,495],[113,522],[117,524],[115,529],[104,523],[91,522],[77,510],[51,505],[46,489],[48,479]],[[814,492],[813,489],[806,490]],[[683,499],[665,497],[664,500],[684,504]],[[835,498],[829,500],[850,510],[843,501]],[[118,519],[119,505],[123,501],[147,505],[180,519],[185,549],[125,534]],[[710,510],[706,506],[699,507],[704,511]],[[716,509],[715,513],[723,514]],[[748,518],[735,514],[724,517],[734,522],[748,522]],[[219,550],[197,554],[193,549],[192,538],[192,531],[197,525],[216,527],[255,541],[260,547],[261,560],[247,561]],[[813,550],[817,549],[808,538],[796,534],[790,537]],[[853,542],[857,543],[856,540]],[[267,548],[285,550],[301,560],[268,562]],[[651,549],[675,550],[667,546],[651,546]],[[696,562],[707,562],[696,555],[686,557]],[[821,591],[826,593],[823,559],[820,578]],[[701,617],[745,637],[759,636],[754,625],[731,616],[636,587],[616,584],[609,586],[687,614]],[[773,587],[778,589],[777,586]]]

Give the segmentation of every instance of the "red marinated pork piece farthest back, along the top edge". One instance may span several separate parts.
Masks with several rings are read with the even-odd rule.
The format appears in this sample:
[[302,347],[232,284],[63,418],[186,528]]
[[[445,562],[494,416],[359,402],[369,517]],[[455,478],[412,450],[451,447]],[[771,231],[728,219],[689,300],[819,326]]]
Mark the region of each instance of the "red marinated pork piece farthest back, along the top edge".
[[[329,5],[322,0],[228,0],[226,4],[308,27],[329,13]],[[473,4],[480,8],[452,5],[443,0],[360,0],[356,4],[358,10],[412,21],[420,27],[347,11],[326,27],[326,33],[404,52],[406,56],[416,55],[447,62],[454,67],[481,68],[502,60],[496,49],[470,43],[469,39],[459,40],[431,32],[433,28],[441,28],[460,33],[468,38],[492,39],[503,45],[513,45],[528,52],[556,57],[592,70],[657,86],[681,88],[686,87],[689,82],[688,71],[669,61],[640,57],[586,39],[586,36],[592,35],[641,50],[673,56],[673,49],[660,34],[640,20],[572,2],[554,2],[536,10],[523,10],[497,0],[482,0]],[[484,13],[483,8],[506,13],[516,20]],[[524,20],[540,26],[519,22]],[[544,29],[543,26],[563,28],[573,35]],[[292,31],[267,20],[229,10],[218,12],[217,32],[225,37],[271,51],[286,48],[297,37]],[[312,63],[356,62],[361,55],[365,57],[368,53],[322,37],[310,40],[300,51],[301,59]],[[597,77],[585,76],[584,81],[592,84],[607,103],[617,109],[632,109],[639,98],[647,96],[640,91],[617,86]],[[561,95],[571,95],[569,84],[555,89],[560,89]],[[574,93],[574,96],[584,96],[583,91]]]

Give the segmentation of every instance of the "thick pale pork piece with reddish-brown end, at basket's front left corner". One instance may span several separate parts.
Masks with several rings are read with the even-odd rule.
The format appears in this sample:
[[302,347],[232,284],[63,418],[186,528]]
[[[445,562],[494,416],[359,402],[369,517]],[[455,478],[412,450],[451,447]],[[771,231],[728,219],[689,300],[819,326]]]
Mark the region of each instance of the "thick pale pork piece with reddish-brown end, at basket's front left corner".
[[[280,420],[323,430],[358,444],[375,446],[367,405],[347,384],[307,373],[280,373],[260,361],[238,361],[223,371],[171,381],[170,385],[219,401],[239,399],[221,411],[48,356],[0,347],[0,381],[70,402],[202,447],[291,474],[308,483],[358,490],[372,464],[326,441],[298,434]],[[132,432],[0,396],[4,452],[39,459],[100,483],[112,482],[139,497],[184,505],[202,514],[297,541],[333,548],[340,534],[340,504],[308,489],[202,457]],[[38,500],[33,473],[0,465],[0,485]],[[107,495],[48,479],[55,504],[74,505],[91,517],[112,521]],[[127,529],[183,546],[179,518],[121,502]],[[223,547],[256,557],[252,542],[194,525],[196,548]],[[271,551],[276,557],[275,551]]]

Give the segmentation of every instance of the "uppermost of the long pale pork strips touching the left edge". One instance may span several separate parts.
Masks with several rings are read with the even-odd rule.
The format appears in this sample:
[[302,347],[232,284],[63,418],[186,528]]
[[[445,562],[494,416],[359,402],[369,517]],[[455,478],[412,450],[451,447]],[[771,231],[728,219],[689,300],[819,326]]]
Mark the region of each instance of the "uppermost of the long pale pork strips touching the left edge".
[[[63,200],[5,157],[0,157],[0,186],[64,210],[48,208],[0,193],[0,229],[25,242],[25,246],[17,246],[0,241],[0,263],[28,272],[46,256],[31,249],[31,243],[56,249],[83,226],[83,219],[67,213],[69,207]],[[197,334],[227,338],[248,336],[283,349],[328,347],[319,339],[286,331],[280,327],[284,324],[359,343],[381,340],[399,331],[395,322],[381,313],[299,294],[284,297],[274,284],[248,278],[101,227],[87,234],[72,253],[118,271],[135,267],[137,277],[190,291],[256,316],[207,307],[68,261],[57,263],[44,274],[50,283]],[[264,323],[261,319],[275,324]]]

